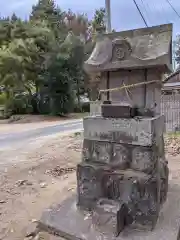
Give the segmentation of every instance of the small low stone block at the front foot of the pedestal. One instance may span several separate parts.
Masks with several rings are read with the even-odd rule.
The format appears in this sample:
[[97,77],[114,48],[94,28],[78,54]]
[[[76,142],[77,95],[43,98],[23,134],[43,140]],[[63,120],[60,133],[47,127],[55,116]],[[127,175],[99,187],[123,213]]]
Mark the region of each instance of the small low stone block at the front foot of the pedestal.
[[97,231],[112,232],[117,237],[127,226],[130,219],[128,211],[127,205],[123,202],[100,199],[93,211],[92,223]]

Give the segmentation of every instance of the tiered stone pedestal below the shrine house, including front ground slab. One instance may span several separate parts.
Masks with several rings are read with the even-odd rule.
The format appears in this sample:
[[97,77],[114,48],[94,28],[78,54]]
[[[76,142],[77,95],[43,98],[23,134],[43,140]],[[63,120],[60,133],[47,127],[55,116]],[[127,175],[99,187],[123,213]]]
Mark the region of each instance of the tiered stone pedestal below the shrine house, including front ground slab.
[[77,196],[45,211],[40,228],[70,240],[153,230],[168,191],[163,131],[163,116],[85,118]]

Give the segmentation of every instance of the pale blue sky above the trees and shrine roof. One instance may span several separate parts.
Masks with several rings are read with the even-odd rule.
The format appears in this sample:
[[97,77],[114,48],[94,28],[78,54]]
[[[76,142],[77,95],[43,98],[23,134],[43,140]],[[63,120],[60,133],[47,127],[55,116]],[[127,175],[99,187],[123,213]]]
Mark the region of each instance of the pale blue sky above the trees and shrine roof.
[[[180,16],[180,0],[169,0]],[[0,0],[0,15],[7,16],[15,12],[27,19],[33,4],[37,0]],[[76,13],[87,13],[93,17],[97,8],[105,6],[105,0],[56,0],[62,10],[71,9]],[[180,17],[175,14],[167,0],[137,0],[149,26],[173,23],[173,36],[180,34]],[[145,27],[133,0],[111,0],[112,27],[116,31]]]

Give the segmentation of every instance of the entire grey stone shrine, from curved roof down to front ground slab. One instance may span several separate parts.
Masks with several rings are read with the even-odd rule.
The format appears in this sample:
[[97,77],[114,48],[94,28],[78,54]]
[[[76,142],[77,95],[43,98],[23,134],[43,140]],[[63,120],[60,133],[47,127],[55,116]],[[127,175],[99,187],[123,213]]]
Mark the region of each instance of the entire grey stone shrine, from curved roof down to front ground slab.
[[84,118],[77,197],[45,214],[41,227],[82,240],[122,239],[128,225],[154,229],[168,192],[160,98],[171,44],[171,24],[100,36],[85,63],[101,73],[99,88],[142,84],[106,92],[101,112]]

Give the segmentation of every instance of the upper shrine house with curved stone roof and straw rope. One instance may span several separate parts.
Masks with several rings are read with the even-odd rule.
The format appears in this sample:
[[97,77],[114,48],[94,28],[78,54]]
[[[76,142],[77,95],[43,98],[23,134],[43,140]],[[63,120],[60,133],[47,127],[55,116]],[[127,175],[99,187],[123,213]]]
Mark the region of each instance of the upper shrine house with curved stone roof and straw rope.
[[[172,69],[171,45],[171,24],[100,35],[85,69],[101,75],[96,83],[100,90],[154,80],[151,84],[107,92],[102,100],[152,109],[160,115],[163,75]],[[98,104],[91,104],[92,115],[100,114]]]

